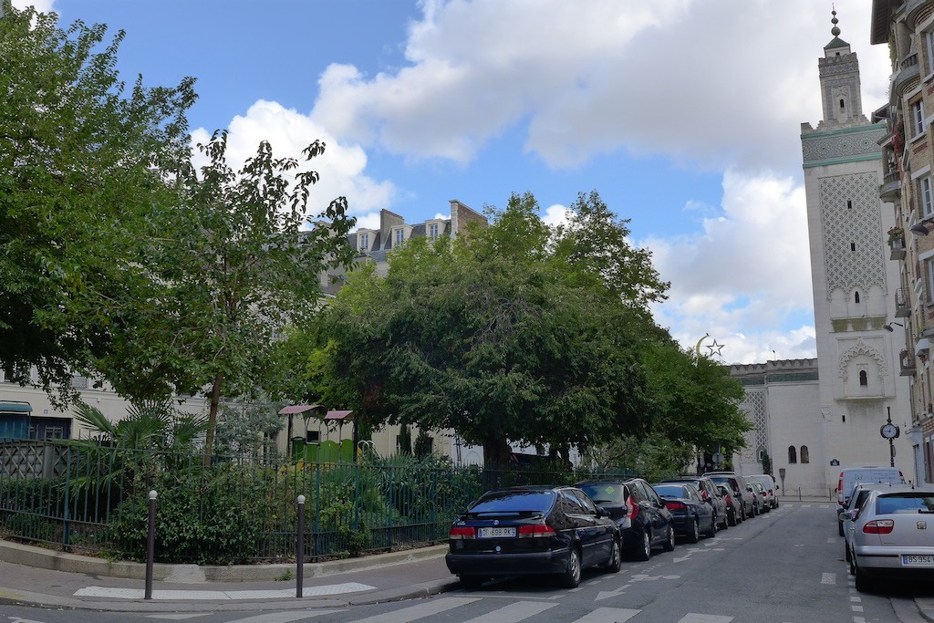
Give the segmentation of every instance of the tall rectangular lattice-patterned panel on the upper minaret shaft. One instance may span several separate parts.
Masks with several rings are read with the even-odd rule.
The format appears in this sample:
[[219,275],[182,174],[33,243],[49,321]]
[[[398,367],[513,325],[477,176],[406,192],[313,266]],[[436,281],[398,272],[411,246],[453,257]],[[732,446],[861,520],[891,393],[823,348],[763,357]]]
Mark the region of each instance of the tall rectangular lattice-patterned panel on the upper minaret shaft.
[[848,297],[855,290],[865,296],[871,286],[886,291],[876,174],[821,178],[820,217],[828,300],[834,290]]

